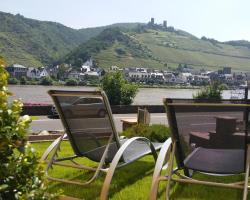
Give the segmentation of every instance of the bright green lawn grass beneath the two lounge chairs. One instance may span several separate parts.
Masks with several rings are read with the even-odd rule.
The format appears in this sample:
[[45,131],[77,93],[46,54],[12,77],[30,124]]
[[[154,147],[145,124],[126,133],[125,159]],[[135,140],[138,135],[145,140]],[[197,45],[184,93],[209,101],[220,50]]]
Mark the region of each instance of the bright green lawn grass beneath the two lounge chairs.
[[[50,143],[33,143],[32,145],[38,151],[39,155],[42,155],[44,150]],[[62,155],[71,155],[72,150],[68,142],[64,142],[61,149]],[[82,159],[85,163],[93,166],[95,163],[90,162],[87,159]],[[63,167],[54,167],[53,175],[56,177],[67,177],[71,179],[83,179],[90,177],[92,173],[87,171],[77,171],[73,169],[66,169]],[[152,173],[154,170],[154,162],[152,156],[146,156],[139,161],[117,170],[115,173],[111,189],[109,193],[110,199],[126,200],[126,199],[148,199],[149,190],[151,186]],[[205,180],[222,180],[223,182],[231,180],[241,180],[241,176],[237,177],[207,177],[205,175],[196,174],[195,177]],[[50,191],[57,192],[62,191],[64,195],[77,197],[80,199],[93,200],[98,199],[104,181],[105,174],[101,174],[88,187],[69,185],[58,182],[50,182]],[[165,183],[160,184],[158,190],[159,199],[165,199]],[[249,195],[250,196],[250,195]],[[222,189],[216,187],[207,187],[201,185],[189,185],[189,184],[173,184],[171,190],[171,199],[203,199],[203,200],[235,200],[241,199],[242,192],[234,189]],[[250,199],[250,197],[248,198]]]

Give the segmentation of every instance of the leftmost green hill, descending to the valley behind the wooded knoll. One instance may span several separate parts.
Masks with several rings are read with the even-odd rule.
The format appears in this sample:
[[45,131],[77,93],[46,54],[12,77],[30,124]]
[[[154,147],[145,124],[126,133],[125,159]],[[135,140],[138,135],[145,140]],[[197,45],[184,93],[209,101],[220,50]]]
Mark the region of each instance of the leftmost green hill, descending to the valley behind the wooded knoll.
[[[114,24],[132,28],[134,24]],[[0,12],[0,55],[8,64],[49,65],[105,28],[72,29],[56,22],[25,18]]]

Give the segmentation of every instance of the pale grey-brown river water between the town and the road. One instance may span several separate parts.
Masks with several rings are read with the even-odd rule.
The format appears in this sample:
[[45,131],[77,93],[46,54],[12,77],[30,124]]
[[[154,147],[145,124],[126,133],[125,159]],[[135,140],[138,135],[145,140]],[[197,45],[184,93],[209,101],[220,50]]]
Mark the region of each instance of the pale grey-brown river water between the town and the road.
[[[87,90],[93,91],[97,87],[87,86],[40,86],[40,85],[9,85],[9,91],[13,96],[11,100],[21,98],[25,103],[48,103],[52,100],[47,94],[48,90]],[[192,98],[197,89],[166,89],[166,88],[140,88],[134,103],[135,105],[161,105],[162,99],[169,98]],[[223,98],[231,97],[231,91],[223,91]]]

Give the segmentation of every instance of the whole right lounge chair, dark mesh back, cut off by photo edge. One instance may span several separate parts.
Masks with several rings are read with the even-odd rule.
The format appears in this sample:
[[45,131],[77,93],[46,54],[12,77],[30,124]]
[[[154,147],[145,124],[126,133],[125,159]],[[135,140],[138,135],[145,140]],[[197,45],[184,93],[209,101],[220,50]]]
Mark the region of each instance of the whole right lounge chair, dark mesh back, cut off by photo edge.
[[[180,182],[242,189],[246,200],[250,188],[249,102],[164,99],[164,104],[171,138],[158,155],[150,199],[157,199],[159,182],[166,181],[166,199],[170,198],[171,182]],[[244,173],[245,178],[241,182],[212,182],[195,179],[196,172],[223,177]]]

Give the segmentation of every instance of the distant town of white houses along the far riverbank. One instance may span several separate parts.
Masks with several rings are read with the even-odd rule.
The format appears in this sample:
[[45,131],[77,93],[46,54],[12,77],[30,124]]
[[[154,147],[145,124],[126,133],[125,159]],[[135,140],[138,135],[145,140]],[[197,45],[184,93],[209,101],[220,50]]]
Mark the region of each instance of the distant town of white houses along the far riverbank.
[[186,64],[179,64],[174,70],[111,66],[109,70],[105,71],[95,66],[92,59],[86,61],[80,69],[69,64],[39,68],[12,64],[6,69],[10,74],[10,84],[52,85],[55,81],[65,85],[91,85],[91,83],[98,83],[105,73],[118,71],[123,73],[128,81],[141,85],[202,86],[211,81],[219,81],[229,88],[240,88],[245,87],[246,82],[250,79],[250,74],[232,72],[230,67],[207,71],[205,69],[197,70]]

